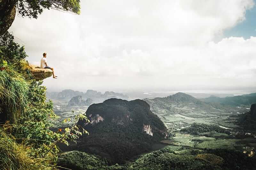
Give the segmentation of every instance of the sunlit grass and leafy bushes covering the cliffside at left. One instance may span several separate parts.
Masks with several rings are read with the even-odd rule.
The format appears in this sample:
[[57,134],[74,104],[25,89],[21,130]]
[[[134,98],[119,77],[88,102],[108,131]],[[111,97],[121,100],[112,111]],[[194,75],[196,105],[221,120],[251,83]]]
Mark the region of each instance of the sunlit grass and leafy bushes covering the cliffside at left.
[[[76,126],[50,130],[49,119],[56,118],[52,102],[45,102],[46,87],[30,74],[26,57],[11,34],[0,37],[0,169],[54,169],[56,144],[87,132]],[[84,115],[77,118],[87,121]]]

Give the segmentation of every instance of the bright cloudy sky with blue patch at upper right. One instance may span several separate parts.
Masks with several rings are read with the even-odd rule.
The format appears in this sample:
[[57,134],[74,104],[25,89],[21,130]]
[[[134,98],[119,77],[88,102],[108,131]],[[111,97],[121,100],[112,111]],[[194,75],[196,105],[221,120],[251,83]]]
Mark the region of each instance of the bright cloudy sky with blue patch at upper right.
[[9,31],[30,63],[47,52],[49,91],[256,91],[253,0],[82,0]]

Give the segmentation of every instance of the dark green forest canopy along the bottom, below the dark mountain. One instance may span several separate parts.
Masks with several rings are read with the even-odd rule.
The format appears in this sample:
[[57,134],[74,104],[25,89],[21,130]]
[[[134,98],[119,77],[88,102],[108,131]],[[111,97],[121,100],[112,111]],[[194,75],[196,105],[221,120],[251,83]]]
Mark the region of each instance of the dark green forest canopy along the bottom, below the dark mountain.
[[144,154],[135,161],[127,162],[121,166],[107,166],[104,159],[78,151],[64,154],[61,156],[64,159],[59,162],[63,167],[73,167],[76,170],[249,170],[254,169],[256,165],[255,156],[250,157],[243,152],[235,150],[185,149],[179,146],[166,146],[158,151]]

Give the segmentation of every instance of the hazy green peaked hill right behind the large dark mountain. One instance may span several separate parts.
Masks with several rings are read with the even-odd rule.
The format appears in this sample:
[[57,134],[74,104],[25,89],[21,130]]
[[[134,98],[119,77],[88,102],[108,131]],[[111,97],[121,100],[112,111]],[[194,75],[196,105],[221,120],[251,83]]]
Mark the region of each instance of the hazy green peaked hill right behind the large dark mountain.
[[[182,120],[184,116],[190,118],[215,117],[215,115],[219,115],[220,113],[227,111],[233,112],[234,110],[234,108],[218,103],[205,103],[191,95],[181,92],[163,98],[157,97],[143,100],[150,105],[152,112],[158,115],[167,126],[170,122],[175,121],[173,118],[176,115],[179,115]],[[211,115],[206,113],[210,113]],[[169,127],[173,127],[173,124]]]

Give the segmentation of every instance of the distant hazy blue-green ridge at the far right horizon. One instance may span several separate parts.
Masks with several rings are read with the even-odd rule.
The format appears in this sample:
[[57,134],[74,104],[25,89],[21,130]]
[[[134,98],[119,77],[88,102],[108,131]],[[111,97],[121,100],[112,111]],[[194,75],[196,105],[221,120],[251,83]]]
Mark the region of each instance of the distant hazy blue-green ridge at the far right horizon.
[[225,98],[211,96],[211,97],[200,99],[200,100],[204,102],[220,103],[220,104],[230,105],[235,107],[241,106],[241,105],[250,106],[253,103],[256,103],[256,93],[244,94],[244,95],[234,96],[234,97],[225,97]]

